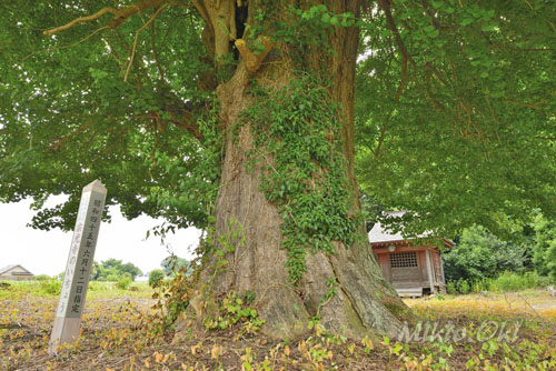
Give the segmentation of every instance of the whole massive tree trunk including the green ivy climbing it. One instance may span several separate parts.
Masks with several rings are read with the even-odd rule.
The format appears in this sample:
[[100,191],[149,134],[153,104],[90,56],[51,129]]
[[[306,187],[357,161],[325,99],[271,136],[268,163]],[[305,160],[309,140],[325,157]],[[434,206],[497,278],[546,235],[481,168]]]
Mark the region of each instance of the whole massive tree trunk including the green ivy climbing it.
[[[373,258],[354,177],[359,4],[296,6],[250,6],[247,49],[217,88],[225,157],[192,304],[216,315],[214,302],[227,292],[252,292],[271,335],[304,333],[311,319],[349,337],[394,335],[399,321],[385,303],[404,304]],[[231,249],[219,239],[230,220],[242,230]]]

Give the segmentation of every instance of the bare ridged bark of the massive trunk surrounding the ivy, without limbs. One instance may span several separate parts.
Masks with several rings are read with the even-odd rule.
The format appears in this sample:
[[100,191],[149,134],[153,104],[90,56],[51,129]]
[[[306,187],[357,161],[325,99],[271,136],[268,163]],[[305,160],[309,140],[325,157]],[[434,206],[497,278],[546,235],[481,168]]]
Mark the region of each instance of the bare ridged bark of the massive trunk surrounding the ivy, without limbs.
[[[358,1],[330,0],[327,7],[334,13],[358,13]],[[250,14],[252,10],[249,9]],[[210,13],[207,7],[203,11]],[[328,57],[325,52],[311,56],[304,67],[326,69],[334,77],[329,97],[332,102],[339,103],[344,118],[338,121],[341,122],[338,131],[342,137],[341,152],[349,180],[346,187],[353,194],[354,212],[359,208],[354,173],[357,43],[356,28],[336,28],[330,36],[334,53]],[[222,42],[217,44],[221,48]],[[251,292],[256,298],[251,305],[266,321],[262,331],[271,337],[302,334],[308,331],[308,321],[316,314],[320,317],[320,324],[332,333],[350,338],[376,333],[396,335],[400,325],[393,312],[398,313],[406,308],[383,278],[368,242],[347,248],[342,242],[334,241],[332,254],[308,251],[305,255],[306,272],[297,284],[291,283],[286,267],[288,255],[280,249],[284,220],[277,203],[270,202],[260,189],[267,177],[265,166],[271,166],[274,159],[268,153],[264,161],[247,163],[247,153],[256,144],[252,126],[240,119],[240,112],[252,103],[252,97],[246,90],[254,80],[264,88],[280,89],[295,79],[292,69],[298,66],[290,60],[286,63],[285,53],[270,53],[266,63],[254,71],[247,68],[245,57],[240,58],[234,77],[217,89],[226,138],[212,240],[215,249],[221,253],[207,258],[192,307],[199,315],[211,315],[217,308],[216,302],[228,292]],[[288,68],[291,70],[288,71]],[[367,241],[363,223],[356,233]],[[327,295],[330,279],[337,282],[335,295]]]

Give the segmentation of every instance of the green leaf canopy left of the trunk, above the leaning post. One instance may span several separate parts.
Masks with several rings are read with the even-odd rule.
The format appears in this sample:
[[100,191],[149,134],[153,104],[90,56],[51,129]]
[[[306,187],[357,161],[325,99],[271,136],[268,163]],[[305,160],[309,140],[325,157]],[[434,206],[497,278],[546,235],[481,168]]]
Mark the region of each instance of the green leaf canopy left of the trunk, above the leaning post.
[[[121,204],[127,218],[147,213],[172,225],[202,227],[215,195],[219,148],[206,150],[210,134],[198,140],[211,124],[200,101],[212,94],[199,88],[199,76],[211,69],[202,60],[200,17],[188,8],[166,9],[140,34],[131,63],[142,17],[117,29],[101,29],[101,19],[42,34],[105,6],[0,6],[6,16],[0,21],[0,200],[31,197],[41,210],[49,194],[69,194],[67,203],[42,209],[33,219],[37,228],[69,230],[80,189],[101,179],[110,190],[107,204]],[[195,136],[182,129],[180,117],[192,106],[199,106]]]

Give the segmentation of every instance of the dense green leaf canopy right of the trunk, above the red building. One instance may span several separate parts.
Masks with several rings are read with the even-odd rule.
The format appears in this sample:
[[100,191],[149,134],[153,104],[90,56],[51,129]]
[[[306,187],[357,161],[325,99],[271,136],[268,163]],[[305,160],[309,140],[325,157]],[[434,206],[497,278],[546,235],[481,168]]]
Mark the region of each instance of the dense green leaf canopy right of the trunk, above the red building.
[[554,218],[554,1],[397,0],[389,11],[361,26],[364,191],[414,211],[409,232],[502,234],[533,208]]

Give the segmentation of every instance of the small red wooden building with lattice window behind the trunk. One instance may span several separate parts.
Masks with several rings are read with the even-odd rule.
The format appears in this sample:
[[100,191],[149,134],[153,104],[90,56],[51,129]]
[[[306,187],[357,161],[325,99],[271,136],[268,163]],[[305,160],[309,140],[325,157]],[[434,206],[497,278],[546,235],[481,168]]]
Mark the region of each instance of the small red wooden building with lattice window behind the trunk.
[[[405,211],[389,211],[390,217],[401,217]],[[428,233],[417,238],[428,237]],[[400,297],[421,297],[425,293],[446,292],[444,267],[437,247],[416,244],[416,239],[405,239],[376,223],[369,232],[373,252],[385,278]],[[443,239],[445,247],[454,243]]]

